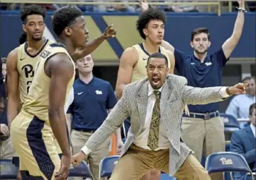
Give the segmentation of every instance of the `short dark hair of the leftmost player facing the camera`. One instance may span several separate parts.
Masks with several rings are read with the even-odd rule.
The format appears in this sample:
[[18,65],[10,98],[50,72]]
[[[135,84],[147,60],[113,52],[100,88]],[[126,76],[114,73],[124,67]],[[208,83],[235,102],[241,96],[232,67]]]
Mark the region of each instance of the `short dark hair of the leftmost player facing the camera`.
[[38,6],[35,4],[24,6],[24,8],[20,11],[20,19],[22,20],[23,24],[26,24],[27,16],[35,14],[40,15],[43,17],[43,19],[45,19],[46,9],[44,9],[42,6]]

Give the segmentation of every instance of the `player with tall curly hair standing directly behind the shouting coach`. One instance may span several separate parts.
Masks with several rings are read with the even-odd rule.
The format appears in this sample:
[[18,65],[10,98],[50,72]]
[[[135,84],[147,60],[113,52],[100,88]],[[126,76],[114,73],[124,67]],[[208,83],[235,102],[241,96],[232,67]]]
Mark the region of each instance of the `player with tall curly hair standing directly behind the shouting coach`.
[[[137,20],[137,30],[145,40],[141,44],[133,45],[124,50],[121,55],[119,72],[116,81],[116,96],[121,93],[126,84],[139,81],[147,76],[146,68],[148,56],[153,53],[163,53],[168,58],[169,73],[174,73],[174,54],[161,47],[164,35],[166,15],[158,9],[149,9],[143,12]],[[159,179],[160,171],[150,171],[143,179]]]

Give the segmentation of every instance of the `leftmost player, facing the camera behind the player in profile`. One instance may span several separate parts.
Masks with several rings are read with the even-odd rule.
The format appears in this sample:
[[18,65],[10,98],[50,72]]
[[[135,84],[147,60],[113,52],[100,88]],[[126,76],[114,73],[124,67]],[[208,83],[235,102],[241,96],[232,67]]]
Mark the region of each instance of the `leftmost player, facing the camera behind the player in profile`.
[[[20,17],[24,31],[19,40],[21,45],[12,50],[7,57],[7,120],[9,127],[25,102],[40,52],[52,43],[51,40],[43,38],[43,21],[46,12],[41,6],[25,6],[20,12]],[[14,158],[14,163],[19,166],[18,158]],[[18,179],[20,179],[20,172],[18,172]]]

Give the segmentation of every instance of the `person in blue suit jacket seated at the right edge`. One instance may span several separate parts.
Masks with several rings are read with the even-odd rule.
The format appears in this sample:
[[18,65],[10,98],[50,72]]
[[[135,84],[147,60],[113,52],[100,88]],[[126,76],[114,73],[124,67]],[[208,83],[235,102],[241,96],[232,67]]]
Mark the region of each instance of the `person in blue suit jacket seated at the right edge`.
[[[234,153],[239,153],[244,156],[249,167],[255,171],[255,108],[256,104],[251,104],[249,107],[249,121],[251,124],[233,133],[231,138],[230,150]],[[234,180],[244,180],[246,174],[235,173]],[[247,177],[247,180],[251,179]]]

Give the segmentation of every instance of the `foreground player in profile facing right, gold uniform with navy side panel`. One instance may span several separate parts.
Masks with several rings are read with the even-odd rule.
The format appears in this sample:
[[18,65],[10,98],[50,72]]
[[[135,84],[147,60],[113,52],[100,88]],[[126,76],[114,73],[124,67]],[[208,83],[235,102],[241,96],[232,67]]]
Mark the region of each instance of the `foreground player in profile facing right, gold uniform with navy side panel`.
[[[12,143],[20,164],[27,170],[22,174],[24,179],[66,179],[69,172],[71,154],[65,110],[75,74],[69,54],[85,46],[87,30],[82,12],[76,8],[55,12],[53,29],[59,42],[40,53],[27,99],[11,126]],[[108,37],[115,35],[114,30],[108,32]],[[61,161],[53,134],[63,153]]]

